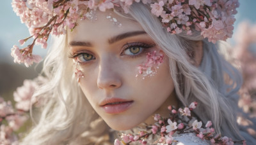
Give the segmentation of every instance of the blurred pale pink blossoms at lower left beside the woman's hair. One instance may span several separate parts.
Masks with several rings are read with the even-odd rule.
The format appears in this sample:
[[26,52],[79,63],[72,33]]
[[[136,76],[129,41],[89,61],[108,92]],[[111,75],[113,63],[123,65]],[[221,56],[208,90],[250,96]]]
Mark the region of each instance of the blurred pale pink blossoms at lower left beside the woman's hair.
[[38,105],[39,100],[32,98],[32,95],[45,81],[47,79],[42,76],[38,76],[33,81],[25,80],[24,86],[20,86],[13,93],[16,101],[15,108],[13,108],[12,102],[6,102],[0,97],[0,144],[19,144],[19,135],[15,132],[28,120],[30,106]]

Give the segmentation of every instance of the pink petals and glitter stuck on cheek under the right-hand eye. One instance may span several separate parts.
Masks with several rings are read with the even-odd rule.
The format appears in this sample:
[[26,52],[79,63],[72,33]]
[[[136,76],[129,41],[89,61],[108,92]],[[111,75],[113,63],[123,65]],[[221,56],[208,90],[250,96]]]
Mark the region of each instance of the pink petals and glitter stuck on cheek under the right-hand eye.
[[[157,53],[156,50],[152,53],[147,53],[147,60],[140,66],[138,66],[139,73],[143,74],[143,79],[145,76],[154,76],[159,69],[159,65],[163,63],[164,55]],[[135,76],[138,77],[138,74]]]

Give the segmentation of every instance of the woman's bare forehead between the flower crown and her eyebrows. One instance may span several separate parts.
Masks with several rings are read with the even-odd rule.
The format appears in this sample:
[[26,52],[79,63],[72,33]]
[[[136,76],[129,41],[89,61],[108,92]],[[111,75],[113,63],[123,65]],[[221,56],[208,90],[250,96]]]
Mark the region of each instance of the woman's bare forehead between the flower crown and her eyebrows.
[[[68,43],[70,41],[104,41],[125,32],[143,31],[138,22],[117,15],[113,11],[97,11],[95,17],[97,20],[80,20],[72,32],[68,31]],[[118,27],[118,24],[121,26]]]

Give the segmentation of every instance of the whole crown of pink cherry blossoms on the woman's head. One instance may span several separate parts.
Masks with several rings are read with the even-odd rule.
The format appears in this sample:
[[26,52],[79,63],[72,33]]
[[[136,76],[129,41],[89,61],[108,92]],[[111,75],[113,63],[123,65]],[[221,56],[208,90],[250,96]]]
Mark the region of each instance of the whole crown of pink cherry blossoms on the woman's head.
[[77,20],[91,19],[92,11],[106,11],[122,8],[129,13],[132,3],[150,4],[151,12],[159,18],[166,31],[179,34],[192,29],[200,31],[209,42],[225,41],[231,38],[236,20],[234,15],[238,0],[13,0],[13,11],[29,28],[31,36],[20,39],[20,45],[33,38],[31,45],[20,49],[13,46],[11,55],[14,62],[27,67],[40,62],[39,55],[33,55],[35,44],[47,47],[50,34],[59,36],[77,26]]

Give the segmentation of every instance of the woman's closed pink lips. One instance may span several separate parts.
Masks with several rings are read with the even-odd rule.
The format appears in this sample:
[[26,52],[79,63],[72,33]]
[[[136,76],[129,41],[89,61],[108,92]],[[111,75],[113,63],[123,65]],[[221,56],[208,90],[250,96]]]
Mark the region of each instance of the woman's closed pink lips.
[[103,100],[100,103],[100,107],[102,107],[102,109],[104,109],[106,113],[116,114],[116,113],[122,113],[127,109],[129,109],[132,103],[133,103],[133,100],[110,98],[110,99]]

